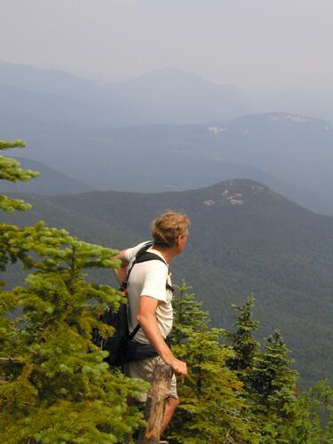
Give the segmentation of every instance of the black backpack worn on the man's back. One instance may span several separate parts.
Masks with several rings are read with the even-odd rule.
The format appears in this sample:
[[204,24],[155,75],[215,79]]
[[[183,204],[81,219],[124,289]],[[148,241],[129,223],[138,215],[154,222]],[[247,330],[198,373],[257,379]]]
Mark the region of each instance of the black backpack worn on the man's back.
[[[128,296],[127,284],[133,266],[150,260],[160,260],[165,264],[165,266],[168,266],[163,258],[156,255],[155,253],[147,251],[152,246],[153,242],[147,242],[136,254],[131,268],[127,273],[126,281],[123,281],[123,284],[120,288],[120,290],[123,291],[125,297]],[[168,283],[166,283],[165,287],[166,289],[170,289],[171,291],[173,291],[172,287]],[[99,348],[101,348],[102,350],[105,350],[109,353],[104,361],[106,361],[110,366],[123,366],[123,364],[128,361],[139,361],[158,355],[153,345],[141,344],[132,340],[141,327],[138,324],[136,328],[133,329],[131,334],[129,333],[127,309],[128,301],[126,301],[125,304],[120,305],[117,312],[113,312],[110,307],[107,307],[107,310],[104,313],[99,314],[100,321],[105,322],[107,325],[110,325],[115,329],[112,337],[107,337],[106,339],[103,339],[102,337],[100,337],[99,329],[97,327],[94,327],[92,329],[92,342],[93,344],[98,345]]]

